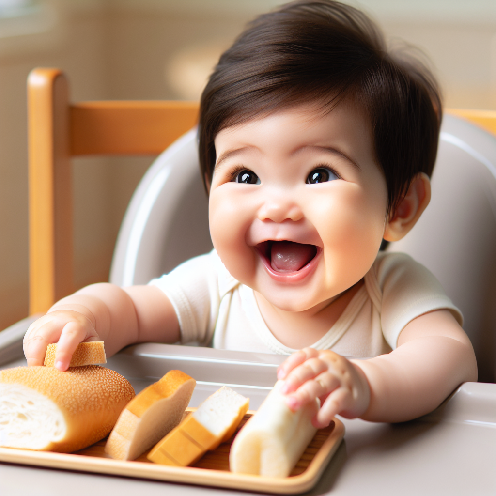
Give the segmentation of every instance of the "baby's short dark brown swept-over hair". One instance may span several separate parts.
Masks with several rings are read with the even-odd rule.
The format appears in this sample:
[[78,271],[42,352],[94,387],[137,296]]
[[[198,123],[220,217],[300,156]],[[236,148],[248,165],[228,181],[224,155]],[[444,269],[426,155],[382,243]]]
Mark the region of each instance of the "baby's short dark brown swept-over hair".
[[212,178],[222,129],[298,104],[330,111],[345,99],[370,119],[394,212],[414,176],[432,174],[440,92],[425,64],[387,52],[367,15],[329,0],[295,1],[259,16],[221,56],[200,103],[204,181]]

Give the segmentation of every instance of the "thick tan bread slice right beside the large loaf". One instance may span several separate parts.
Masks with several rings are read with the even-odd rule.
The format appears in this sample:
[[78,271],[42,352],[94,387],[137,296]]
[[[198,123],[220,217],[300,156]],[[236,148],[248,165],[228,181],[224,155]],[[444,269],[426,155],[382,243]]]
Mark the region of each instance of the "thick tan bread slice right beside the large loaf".
[[181,371],[169,371],[143,389],[121,412],[105,452],[118,460],[135,460],[183,419],[196,381]]

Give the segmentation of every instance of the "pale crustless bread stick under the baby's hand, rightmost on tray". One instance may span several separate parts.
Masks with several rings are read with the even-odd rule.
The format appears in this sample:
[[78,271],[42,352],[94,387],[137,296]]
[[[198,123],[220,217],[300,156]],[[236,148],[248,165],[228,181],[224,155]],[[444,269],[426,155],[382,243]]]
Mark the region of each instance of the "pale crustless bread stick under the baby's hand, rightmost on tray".
[[282,383],[276,382],[234,438],[229,453],[231,472],[287,477],[317,432],[311,419],[319,408],[318,399],[292,412],[279,391]]

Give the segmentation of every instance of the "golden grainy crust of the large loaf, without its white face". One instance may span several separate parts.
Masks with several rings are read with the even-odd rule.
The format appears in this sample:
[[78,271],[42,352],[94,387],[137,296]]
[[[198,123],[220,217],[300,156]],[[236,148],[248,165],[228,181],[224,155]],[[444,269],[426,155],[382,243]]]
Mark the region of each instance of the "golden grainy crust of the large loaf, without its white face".
[[33,389],[62,412],[65,436],[43,447],[43,451],[69,453],[102,439],[134,397],[134,389],[122,375],[98,365],[73,367],[66,372],[54,367],[16,367],[0,371],[0,382]]

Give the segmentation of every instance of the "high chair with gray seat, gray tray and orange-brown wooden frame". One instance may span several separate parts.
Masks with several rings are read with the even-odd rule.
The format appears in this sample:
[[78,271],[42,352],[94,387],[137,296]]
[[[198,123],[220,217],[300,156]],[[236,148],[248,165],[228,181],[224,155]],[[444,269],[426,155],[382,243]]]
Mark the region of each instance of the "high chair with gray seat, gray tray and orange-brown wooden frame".
[[[71,156],[156,155],[179,138],[155,160],[131,198],[114,252],[111,282],[146,284],[211,248],[196,132],[188,130],[195,124],[196,103],[69,105],[67,83],[56,69],[35,69],[28,79],[28,94],[31,313],[46,311],[73,289]],[[496,112],[447,111],[431,204],[415,229],[387,248],[410,253],[424,263],[460,307],[476,350],[480,380],[486,382],[495,381],[496,355],[495,134]],[[0,333],[0,368],[25,364],[22,336],[34,318]],[[250,396],[250,408],[256,409],[283,358],[145,343],[124,349],[107,366],[128,377],[136,391],[168,370],[181,369],[197,379],[192,406],[219,384],[229,383]],[[397,426],[342,420],[346,445],[340,446],[312,494],[496,492],[496,384],[465,383],[432,414]],[[1,456],[0,449],[0,460]],[[3,481],[21,484],[25,492],[36,492],[33,481],[40,474],[47,481],[60,475],[0,464]],[[158,495],[167,486],[81,473],[65,476],[66,484],[84,492],[94,492],[98,484],[102,493]],[[167,488],[204,494],[202,488]]]

